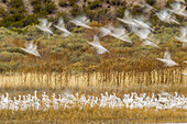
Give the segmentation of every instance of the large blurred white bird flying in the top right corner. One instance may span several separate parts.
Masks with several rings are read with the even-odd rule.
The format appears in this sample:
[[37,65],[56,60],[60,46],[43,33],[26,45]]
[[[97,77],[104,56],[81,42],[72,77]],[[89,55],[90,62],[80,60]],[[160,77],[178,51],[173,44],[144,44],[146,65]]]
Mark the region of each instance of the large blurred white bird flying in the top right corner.
[[187,16],[185,4],[180,4],[179,2],[173,2],[173,3],[169,3],[169,5],[172,8],[172,10],[169,11],[182,16]]

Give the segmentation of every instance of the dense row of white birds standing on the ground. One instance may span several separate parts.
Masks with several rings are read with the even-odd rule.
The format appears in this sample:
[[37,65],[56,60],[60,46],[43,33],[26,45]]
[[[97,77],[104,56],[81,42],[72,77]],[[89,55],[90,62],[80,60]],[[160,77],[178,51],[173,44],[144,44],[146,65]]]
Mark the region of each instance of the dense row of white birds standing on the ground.
[[26,110],[43,110],[50,109],[74,109],[74,108],[110,108],[110,109],[155,109],[155,110],[187,110],[187,98],[184,94],[175,92],[174,95],[161,91],[157,95],[152,93],[151,97],[146,93],[135,92],[124,94],[122,98],[114,93],[100,93],[99,97],[85,94],[64,93],[56,97],[55,93],[50,98],[43,92],[42,98],[37,98],[37,92],[34,95],[19,95],[19,98],[9,98],[9,93],[0,95],[0,110],[26,111]]

